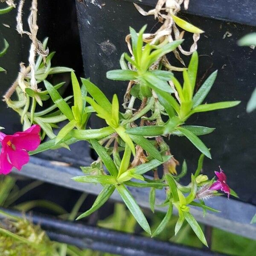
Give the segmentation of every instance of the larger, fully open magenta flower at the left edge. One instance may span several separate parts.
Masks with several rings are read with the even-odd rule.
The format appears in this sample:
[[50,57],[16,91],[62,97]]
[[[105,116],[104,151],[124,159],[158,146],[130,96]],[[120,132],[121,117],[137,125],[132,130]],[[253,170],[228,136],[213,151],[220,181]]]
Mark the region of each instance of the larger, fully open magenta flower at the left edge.
[[29,162],[27,151],[35,150],[40,145],[39,125],[32,125],[26,131],[16,132],[13,135],[6,135],[0,132],[0,143],[2,151],[0,153],[0,174],[8,174],[12,167],[19,171],[22,166]]

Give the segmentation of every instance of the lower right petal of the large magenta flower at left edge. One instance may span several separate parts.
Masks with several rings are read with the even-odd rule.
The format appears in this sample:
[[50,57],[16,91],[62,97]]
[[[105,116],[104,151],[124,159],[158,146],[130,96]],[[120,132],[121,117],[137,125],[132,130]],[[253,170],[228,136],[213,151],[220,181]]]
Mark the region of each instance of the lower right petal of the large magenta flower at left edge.
[[12,148],[7,151],[10,162],[15,166],[19,171],[22,166],[29,162],[29,154],[27,151],[20,148],[13,150]]

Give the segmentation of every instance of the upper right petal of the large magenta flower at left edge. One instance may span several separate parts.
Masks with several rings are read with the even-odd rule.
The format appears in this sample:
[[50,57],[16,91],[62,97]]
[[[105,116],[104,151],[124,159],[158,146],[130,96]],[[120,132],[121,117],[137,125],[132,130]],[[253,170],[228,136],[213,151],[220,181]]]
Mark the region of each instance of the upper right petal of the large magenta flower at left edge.
[[16,148],[29,150],[35,150],[40,145],[39,134],[23,134],[20,136],[13,136],[12,143]]

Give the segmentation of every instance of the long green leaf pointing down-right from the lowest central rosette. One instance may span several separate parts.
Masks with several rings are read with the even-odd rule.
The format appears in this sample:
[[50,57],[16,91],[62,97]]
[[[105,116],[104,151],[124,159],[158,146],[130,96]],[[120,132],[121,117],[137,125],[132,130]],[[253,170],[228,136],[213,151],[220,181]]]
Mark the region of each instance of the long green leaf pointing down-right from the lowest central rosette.
[[119,192],[119,195],[121,196],[122,200],[130,210],[131,214],[134,216],[138,224],[149,234],[151,234],[150,227],[148,225],[148,221],[145,218],[142,210],[138,206],[137,202],[134,200],[131,193],[128,191],[128,189],[124,185],[116,186],[117,191]]

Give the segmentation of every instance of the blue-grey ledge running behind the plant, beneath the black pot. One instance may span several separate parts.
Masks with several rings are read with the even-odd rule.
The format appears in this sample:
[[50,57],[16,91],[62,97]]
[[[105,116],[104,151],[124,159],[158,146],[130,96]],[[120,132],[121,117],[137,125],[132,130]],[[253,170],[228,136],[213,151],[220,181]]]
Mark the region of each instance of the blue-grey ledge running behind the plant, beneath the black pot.
[[[62,160],[62,159],[60,159]],[[92,159],[84,157],[84,164],[89,165]],[[38,157],[31,157],[30,162],[18,172],[13,171],[18,175],[31,177],[38,180],[43,180],[59,186],[64,186],[78,191],[84,191],[93,195],[98,195],[102,190],[100,184],[79,183],[71,178],[78,175],[83,175],[80,169],[73,166],[59,165],[58,162],[43,160]],[[136,198],[138,204],[146,209],[150,209],[148,204],[149,189],[138,189],[129,187],[131,194]],[[165,200],[165,191],[158,190],[156,192],[156,205],[161,204]],[[114,201],[122,201],[117,192],[111,196]],[[250,220],[256,212],[256,206],[246,204],[234,199],[227,200],[225,196],[209,199],[206,204],[209,207],[214,207],[221,212],[207,212],[203,216],[203,212],[199,208],[191,207],[191,213],[195,218],[203,223],[213,227],[218,227],[222,230],[236,233],[250,239],[256,239],[256,225],[251,225]],[[157,211],[166,212],[164,207],[156,207]],[[174,209],[174,214],[177,215],[177,210]]]

